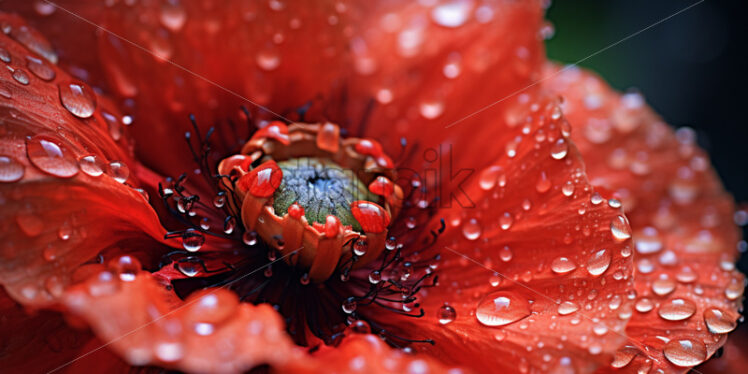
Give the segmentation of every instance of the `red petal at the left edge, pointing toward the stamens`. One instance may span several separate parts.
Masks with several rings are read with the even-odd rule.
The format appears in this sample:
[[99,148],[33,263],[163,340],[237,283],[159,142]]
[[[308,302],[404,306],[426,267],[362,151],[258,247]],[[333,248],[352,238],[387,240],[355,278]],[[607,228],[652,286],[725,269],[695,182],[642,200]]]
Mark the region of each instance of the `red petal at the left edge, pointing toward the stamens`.
[[[29,32],[17,17],[0,22],[11,37]],[[11,37],[0,35],[9,60],[0,73],[0,281],[16,300],[43,306],[100,251],[123,239],[158,245],[164,230],[136,189],[122,117]]]

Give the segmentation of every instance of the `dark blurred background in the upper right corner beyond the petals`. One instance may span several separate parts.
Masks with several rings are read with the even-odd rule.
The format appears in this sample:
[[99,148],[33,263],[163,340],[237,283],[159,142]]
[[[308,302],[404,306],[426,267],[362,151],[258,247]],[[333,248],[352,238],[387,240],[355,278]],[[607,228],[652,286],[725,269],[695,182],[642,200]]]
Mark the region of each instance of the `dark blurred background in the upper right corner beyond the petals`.
[[[548,55],[577,62],[697,2],[554,0]],[[707,0],[579,64],[618,90],[640,90],[671,125],[695,129],[738,203],[748,202],[747,11],[744,1]],[[739,268],[748,271],[748,255]]]

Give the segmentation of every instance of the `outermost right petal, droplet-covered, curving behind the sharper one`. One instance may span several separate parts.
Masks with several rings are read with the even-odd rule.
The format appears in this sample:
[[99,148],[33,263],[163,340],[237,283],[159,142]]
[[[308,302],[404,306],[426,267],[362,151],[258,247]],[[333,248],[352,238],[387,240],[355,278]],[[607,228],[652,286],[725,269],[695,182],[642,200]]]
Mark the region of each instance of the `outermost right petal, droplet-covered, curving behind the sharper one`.
[[620,95],[576,68],[546,73],[547,88],[566,99],[592,183],[615,191],[634,230],[637,299],[626,333],[644,352],[624,348],[614,366],[685,372],[724,344],[739,317],[732,197],[694,132],[671,130],[639,93]]

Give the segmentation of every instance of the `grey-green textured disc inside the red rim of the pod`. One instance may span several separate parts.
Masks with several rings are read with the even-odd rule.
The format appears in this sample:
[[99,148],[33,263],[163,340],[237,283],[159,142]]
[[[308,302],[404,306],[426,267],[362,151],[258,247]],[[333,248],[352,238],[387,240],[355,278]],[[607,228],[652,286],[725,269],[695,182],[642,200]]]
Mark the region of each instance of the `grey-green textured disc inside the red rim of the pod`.
[[343,170],[329,159],[308,157],[281,161],[278,167],[283,171],[283,180],[273,195],[275,214],[283,216],[291,204],[298,203],[309,223],[324,224],[327,216],[333,215],[343,226],[362,232],[361,224],[351,213],[351,203],[378,199],[352,171]]

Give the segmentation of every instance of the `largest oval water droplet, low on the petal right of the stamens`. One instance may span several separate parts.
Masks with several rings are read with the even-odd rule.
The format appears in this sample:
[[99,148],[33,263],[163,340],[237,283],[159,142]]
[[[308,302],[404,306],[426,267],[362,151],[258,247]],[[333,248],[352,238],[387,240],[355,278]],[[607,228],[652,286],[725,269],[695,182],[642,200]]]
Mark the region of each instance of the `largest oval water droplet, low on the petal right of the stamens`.
[[486,295],[478,304],[475,316],[486,326],[504,326],[530,315],[526,298],[511,292],[499,291]]

